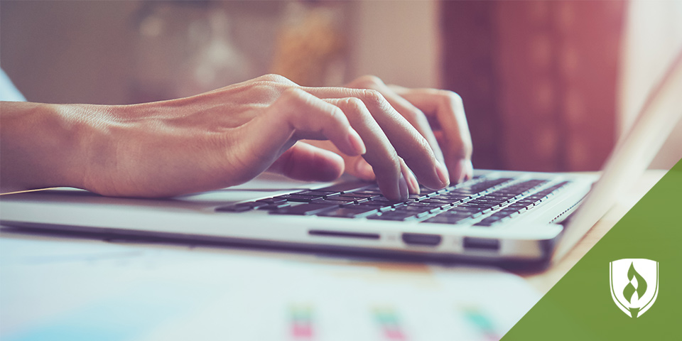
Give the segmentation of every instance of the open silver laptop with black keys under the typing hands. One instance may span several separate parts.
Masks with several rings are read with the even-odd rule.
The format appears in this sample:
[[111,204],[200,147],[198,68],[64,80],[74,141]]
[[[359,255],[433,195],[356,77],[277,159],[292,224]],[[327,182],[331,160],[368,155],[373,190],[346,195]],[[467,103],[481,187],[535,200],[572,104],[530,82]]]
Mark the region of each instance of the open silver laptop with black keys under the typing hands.
[[[465,183],[421,188],[404,202],[375,183],[249,183],[167,200],[53,188],[0,197],[0,224],[183,242],[427,259],[561,259],[638,178],[682,116],[682,53],[649,95],[601,175],[477,170]],[[570,219],[567,219],[570,217]]]

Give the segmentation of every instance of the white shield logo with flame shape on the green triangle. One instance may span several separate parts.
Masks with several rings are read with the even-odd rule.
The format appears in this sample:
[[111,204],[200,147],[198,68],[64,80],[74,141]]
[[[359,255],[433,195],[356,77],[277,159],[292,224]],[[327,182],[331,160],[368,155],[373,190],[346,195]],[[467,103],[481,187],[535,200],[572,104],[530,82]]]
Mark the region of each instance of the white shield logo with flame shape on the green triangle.
[[637,318],[651,308],[659,295],[659,262],[619,259],[609,264],[611,297],[623,313]]

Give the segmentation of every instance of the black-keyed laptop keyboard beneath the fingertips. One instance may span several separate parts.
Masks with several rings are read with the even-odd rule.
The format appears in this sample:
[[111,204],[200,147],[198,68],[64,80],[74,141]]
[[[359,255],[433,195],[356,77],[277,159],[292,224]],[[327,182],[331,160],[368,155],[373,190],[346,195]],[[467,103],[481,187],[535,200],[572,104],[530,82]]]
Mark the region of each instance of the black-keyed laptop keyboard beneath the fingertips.
[[419,195],[391,201],[376,184],[302,190],[262,200],[218,207],[219,212],[268,210],[271,215],[317,215],[435,224],[471,223],[479,227],[513,219],[532,210],[568,185],[545,179],[478,177],[442,190],[421,188]]

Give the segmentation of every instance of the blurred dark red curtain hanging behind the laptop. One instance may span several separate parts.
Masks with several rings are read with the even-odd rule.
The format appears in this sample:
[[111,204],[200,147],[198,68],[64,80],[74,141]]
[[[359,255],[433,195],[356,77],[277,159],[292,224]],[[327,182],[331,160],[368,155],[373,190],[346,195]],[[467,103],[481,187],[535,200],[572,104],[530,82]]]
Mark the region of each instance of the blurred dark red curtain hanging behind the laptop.
[[592,171],[616,140],[624,1],[443,1],[477,168]]

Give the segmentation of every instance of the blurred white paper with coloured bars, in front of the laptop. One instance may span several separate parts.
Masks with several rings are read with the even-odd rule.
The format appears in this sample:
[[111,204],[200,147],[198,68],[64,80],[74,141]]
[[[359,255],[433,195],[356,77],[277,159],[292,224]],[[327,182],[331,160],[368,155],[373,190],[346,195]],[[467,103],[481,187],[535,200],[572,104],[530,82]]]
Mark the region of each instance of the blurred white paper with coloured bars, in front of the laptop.
[[0,338],[497,340],[540,295],[494,269],[0,239]]

